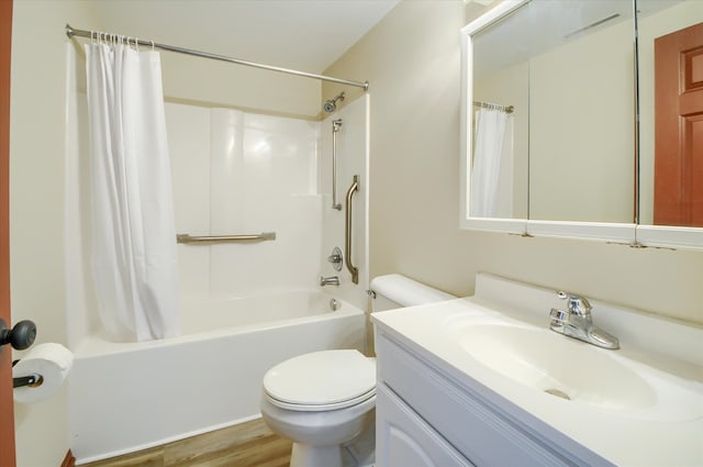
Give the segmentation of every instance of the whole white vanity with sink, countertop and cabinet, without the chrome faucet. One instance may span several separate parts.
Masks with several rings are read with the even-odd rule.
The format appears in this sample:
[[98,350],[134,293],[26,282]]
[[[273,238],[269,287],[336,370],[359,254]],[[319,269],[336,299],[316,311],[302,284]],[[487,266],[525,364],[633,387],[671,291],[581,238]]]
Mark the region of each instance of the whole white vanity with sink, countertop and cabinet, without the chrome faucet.
[[620,349],[551,332],[555,290],[487,274],[372,313],[377,467],[703,466],[703,327],[591,304]]

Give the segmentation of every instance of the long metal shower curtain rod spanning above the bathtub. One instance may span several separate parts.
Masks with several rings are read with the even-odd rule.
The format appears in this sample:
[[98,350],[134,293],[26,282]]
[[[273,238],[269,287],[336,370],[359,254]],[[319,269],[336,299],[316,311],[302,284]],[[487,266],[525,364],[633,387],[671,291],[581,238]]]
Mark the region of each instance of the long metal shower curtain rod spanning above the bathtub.
[[[69,38],[72,38],[74,36],[88,37],[88,38],[100,37],[103,41],[110,41],[111,37],[122,37],[122,38],[124,38],[124,36],[120,36],[120,35],[116,35],[116,34],[109,34],[109,33],[103,33],[103,32],[98,32],[98,31],[93,32],[93,31],[76,30],[76,29],[71,27],[69,24],[66,24],[66,35]],[[368,91],[368,89],[369,89],[369,81],[360,82],[360,81],[352,81],[349,79],[334,78],[334,77],[331,77],[331,76],[315,75],[315,74],[312,74],[312,73],[299,71],[299,70],[289,69],[289,68],[281,68],[281,67],[276,67],[276,66],[271,66],[271,65],[257,64],[256,62],[247,62],[247,60],[242,60],[242,59],[238,59],[238,58],[226,57],[224,55],[216,55],[216,54],[210,54],[208,52],[192,51],[192,49],[189,49],[189,48],[177,47],[175,45],[159,44],[157,42],[143,41],[141,38],[134,38],[134,37],[130,37],[130,42],[131,43],[136,43],[138,45],[144,45],[144,46],[147,46],[147,47],[160,48],[161,51],[175,52],[177,54],[194,55],[197,57],[211,58],[211,59],[220,60],[220,62],[228,62],[231,64],[245,65],[245,66],[249,66],[249,67],[254,67],[254,68],[268,69],[268,70],[271,70],[271,71],[280,71],[280,73],[288,74],[288,75],[295,75],[295,76],[302,76],[302,77],[305,77],[305,78],[320,79],[322,81],[331,81],[331,82],[337,82],[339,85],[356,86],[357,88],[362,88],[365,91]]]

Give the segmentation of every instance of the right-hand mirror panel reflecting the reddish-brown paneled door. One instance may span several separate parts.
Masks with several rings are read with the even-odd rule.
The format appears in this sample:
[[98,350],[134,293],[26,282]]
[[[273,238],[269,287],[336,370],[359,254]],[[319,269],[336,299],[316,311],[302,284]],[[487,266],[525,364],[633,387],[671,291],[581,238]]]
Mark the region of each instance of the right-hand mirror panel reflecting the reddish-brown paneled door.
[[703,226],[703,5],[637,0],[640,223]]

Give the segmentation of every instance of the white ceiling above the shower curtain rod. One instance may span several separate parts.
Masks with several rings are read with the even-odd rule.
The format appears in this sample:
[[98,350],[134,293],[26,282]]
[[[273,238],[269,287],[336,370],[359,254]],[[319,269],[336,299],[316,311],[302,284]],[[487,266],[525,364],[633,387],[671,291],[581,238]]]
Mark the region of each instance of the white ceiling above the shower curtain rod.
[[[92,0],[104,32],[322,73],[398,0]],[[81,30],[93,24],[71,24]]]

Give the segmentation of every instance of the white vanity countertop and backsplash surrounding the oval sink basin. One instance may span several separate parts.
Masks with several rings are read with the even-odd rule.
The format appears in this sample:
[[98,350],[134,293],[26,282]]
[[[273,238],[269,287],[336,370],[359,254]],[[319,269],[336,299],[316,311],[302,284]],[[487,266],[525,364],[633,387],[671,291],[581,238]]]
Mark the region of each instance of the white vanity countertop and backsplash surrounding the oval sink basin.
[[[381,332],[402,342],[461,385],[493,401],[507,400],[522,409],[514,414],[524,423],[529,425],[528,419],[537,418],[615,465],[703,465],[703,330],[700,326],[592,302],[594,323],[607,323],[610,327],[602,327],[621,338],[617,351],[593,351],[610,353],[609,357],[635,370],[658,396],[666,397],[657,398],[656,403],[647,407],[626,410],[563,400],[496,373],[457,343],[455,333],[476,324],[548,327],[553,291],[492,276],[483,276],[480,281],[483,283],[477,281],[475,297],[373,313],[372,320]],[[523,305],[520,312],[511,305],[515,302]],[[607,311],[607,318],[603,310]],[[639,333],[649,331],[648,327],[658,330],[652,338],[654,351],[636,345],[647,342]],[[578,366],[579,362],[573,365]],[[510,403],[503,405],[510,410]]]

